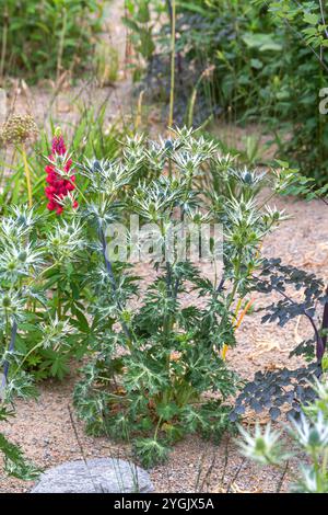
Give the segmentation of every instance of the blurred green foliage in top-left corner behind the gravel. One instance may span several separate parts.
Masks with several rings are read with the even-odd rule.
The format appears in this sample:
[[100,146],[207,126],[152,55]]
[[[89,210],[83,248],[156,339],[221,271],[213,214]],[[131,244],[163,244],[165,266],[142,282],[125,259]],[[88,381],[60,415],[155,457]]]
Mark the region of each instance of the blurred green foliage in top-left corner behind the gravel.
[[85,69],[101,28],[96,0],[1,0],[0,77],[32,81]]

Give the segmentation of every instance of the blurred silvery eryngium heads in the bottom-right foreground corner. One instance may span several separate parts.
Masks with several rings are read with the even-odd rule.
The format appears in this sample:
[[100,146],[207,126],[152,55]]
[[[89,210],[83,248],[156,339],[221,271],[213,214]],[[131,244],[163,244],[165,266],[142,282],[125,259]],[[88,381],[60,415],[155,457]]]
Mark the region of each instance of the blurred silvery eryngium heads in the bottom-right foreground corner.
[[293,453],[285,450],[281,433],[271,430],[270,425],[263,432],[257,426],[254,435],[241,427],[244,442],[239,446],[247,458],[260,465],[278,467],[284,473],[288,460],[301,451],[306,459],[294,478],[292,491],[328,493],[328,385],[317,381],[314,388],[316,401],[302,407],[300,420],[291,420],[288,427],[288,433],[296,444]]

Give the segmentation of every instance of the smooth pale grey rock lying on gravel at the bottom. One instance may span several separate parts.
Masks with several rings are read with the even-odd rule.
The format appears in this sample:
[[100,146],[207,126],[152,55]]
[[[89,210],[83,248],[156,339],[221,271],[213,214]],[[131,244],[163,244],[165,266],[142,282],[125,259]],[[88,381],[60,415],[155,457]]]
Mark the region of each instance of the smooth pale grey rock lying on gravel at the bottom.
[[48,469],[31,493],[149,493],[149,473],[122,459],[67,461]]

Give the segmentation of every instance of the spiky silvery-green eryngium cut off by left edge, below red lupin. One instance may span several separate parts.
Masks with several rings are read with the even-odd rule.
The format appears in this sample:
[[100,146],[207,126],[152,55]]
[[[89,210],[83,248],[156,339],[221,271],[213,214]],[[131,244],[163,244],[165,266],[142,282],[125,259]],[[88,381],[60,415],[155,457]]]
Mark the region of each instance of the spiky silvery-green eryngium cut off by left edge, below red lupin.
[[[49,228],[46,220],[26,207],[10,207],[0,220],[0,422],[14,414],[17,397],[36,396],[35,377],[61,377],[72,324],[79,328],[79,294],[71,295],[68,285],[78,289],[72,266],[83,243],[81,228],[74,220],[52,220]],[[0,453],[11,476],[38,473],[2,433]]]

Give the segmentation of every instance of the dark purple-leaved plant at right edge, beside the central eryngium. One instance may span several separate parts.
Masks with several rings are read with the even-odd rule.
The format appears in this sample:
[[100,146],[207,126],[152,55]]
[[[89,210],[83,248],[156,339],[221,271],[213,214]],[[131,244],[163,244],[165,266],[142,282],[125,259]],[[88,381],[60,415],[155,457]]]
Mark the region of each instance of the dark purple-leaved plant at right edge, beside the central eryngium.
[[[314,191],[312,180],[295,174],[286,163],[281,165],[284,193],[302,193],[308,199],[319,198],[327,205],[327,185]],[[283,328],[302,317],[312,334],[290,348],[290,358],[300,356],[305,363],[297,368],[285,366],[258,370],[237,397],[232,420],[243,415],[248,408],[256,413],[269,410],[272,420],[278,419],[286,408],[286,414],[296,417],[301,407],[315,398],[315,390],[308,384],[327,371],[327,285],[314,273],[284,265],[280,258],[272,258],[263,259],[260,270],[253,273],[253,289],[265,295],[277,294],[271,304],[261,308],[266,311],[262,323],[277,322]]]

